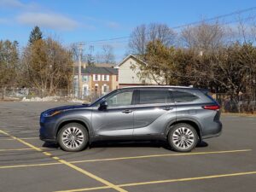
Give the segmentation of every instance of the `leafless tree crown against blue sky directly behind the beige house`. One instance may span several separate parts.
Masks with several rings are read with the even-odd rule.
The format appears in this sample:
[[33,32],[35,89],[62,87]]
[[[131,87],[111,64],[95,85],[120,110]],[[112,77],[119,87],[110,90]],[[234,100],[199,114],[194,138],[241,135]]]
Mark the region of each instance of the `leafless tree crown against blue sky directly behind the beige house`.
[[137,26],[131,32],[129,49],[132,54],[144,55],[148,42],[159,40],[169,47],[175,44],[176,33],[166,24],[151,23],[148,26]]

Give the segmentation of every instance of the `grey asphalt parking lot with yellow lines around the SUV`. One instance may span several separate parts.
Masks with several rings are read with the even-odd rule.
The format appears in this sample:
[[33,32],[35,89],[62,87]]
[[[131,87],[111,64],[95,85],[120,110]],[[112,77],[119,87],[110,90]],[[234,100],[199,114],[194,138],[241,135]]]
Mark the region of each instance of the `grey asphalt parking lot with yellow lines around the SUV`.
[[191,153],[163,143],[96,143],[79,153],[38,139],[64,102],[0,102],[0,191],[256,191],[256,117],[222,116],[221,137]]

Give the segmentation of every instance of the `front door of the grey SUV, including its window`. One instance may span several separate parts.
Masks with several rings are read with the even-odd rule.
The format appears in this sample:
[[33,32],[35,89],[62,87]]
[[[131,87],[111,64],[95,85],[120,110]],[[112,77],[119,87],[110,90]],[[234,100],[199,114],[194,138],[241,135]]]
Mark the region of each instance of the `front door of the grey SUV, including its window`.
[[133,91],[123,90],[108,96],[107,109],[92,110],[92,126],[96,137],[132,136],[134,106]]

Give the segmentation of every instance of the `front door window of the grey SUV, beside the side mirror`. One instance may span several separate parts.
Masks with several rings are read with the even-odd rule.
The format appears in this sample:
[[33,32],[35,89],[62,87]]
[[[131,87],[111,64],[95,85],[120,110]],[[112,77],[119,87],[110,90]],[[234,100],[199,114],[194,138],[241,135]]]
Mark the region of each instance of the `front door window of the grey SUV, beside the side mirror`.
[[117,93],[113,96],[108,97],[106,102],[108,103],[109,107],[131,105],[132,93],[132,91]]

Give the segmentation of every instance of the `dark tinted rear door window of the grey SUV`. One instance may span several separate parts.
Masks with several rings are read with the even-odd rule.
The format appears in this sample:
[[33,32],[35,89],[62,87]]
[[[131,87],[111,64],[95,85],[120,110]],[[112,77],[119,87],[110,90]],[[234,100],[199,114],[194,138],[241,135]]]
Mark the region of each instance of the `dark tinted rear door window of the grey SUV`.
[[168,90],[140,90],[139,104],[171,102]]

